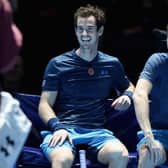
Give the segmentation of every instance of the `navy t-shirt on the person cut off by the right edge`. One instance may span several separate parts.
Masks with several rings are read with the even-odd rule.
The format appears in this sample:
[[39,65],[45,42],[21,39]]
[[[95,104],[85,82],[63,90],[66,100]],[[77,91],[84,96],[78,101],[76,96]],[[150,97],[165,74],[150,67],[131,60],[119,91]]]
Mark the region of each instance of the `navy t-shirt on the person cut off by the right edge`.
[[168,54],[155,53],[147,60],[140,78],[152,83],[150,118],[153,128],[168,129]]

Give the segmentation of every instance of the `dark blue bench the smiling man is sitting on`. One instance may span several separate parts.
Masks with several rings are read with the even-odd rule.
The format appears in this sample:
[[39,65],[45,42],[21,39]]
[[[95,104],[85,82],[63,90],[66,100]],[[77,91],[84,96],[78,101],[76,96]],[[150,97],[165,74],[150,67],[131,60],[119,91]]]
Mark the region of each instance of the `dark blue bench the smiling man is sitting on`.
[[[40,96],[24,93],[15,93],[15,98],[20,102],[20,106],[32,121],[32,130],[19,156],[17,166],[24,168],[50,168],[51,165],[39,148],[42,138],[40,131],[45,130],[46,126],[38,116],[38,103]],[[113,130],[118,138],[127,146],[129,150],[129,168],[137,167],[137,153],[135,147],[137,144],[136,132],[138,129],[134,116],[134,110],[131,107],[125,112],[114,111],[110,107],[111,100],[107,101],[107,124],[108,129]],[[78,147],[79,155],[76,157],[73,168],[106,168],[106,165],[92,162],[87,158],[87,150],[84,147]],[[82,163],[83,166],[81,167]]]

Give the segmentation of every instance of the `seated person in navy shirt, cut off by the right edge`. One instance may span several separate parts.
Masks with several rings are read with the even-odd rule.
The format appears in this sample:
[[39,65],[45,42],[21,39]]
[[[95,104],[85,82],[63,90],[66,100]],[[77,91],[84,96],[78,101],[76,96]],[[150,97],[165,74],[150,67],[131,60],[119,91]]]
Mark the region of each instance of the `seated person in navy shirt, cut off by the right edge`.
[[[163,164],[167,159],[167,74],[168,54],[163,52],[152,54],[147,60],[136,85],[133,100],[137,120],[144,134],[144,138],[138,144],[139,168],[154,168]],[[150,103],[149,100],[151,100]]]

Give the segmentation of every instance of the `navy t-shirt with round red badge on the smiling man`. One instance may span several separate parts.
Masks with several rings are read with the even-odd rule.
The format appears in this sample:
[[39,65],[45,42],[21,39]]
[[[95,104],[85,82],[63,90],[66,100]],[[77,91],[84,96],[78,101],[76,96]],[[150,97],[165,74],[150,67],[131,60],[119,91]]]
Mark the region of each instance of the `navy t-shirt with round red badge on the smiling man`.
[[54,110],[65,126],[101,128],[111,90],[123,93],[128,86],[117,58],[99,51],[94,60],[87,62],[72,50],[49,61],[42,89],[58,92]]

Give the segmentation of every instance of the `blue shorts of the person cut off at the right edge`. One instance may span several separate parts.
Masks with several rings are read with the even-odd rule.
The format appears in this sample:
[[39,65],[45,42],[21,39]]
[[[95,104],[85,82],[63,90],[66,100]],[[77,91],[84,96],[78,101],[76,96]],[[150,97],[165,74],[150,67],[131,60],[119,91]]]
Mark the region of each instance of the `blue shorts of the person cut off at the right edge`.
[[[161,142],[161,144],[164,146],[167,152],[168,151],[168,130],[152,130],[152,133],[155,139]],[[137,144],[137,150],[139,150],[139,148],[142,145],[146,144],[146,141],[145,141],[144,134],[142,131],[139,131],[137,133],[137,136],[140,139],[140,142]]]

